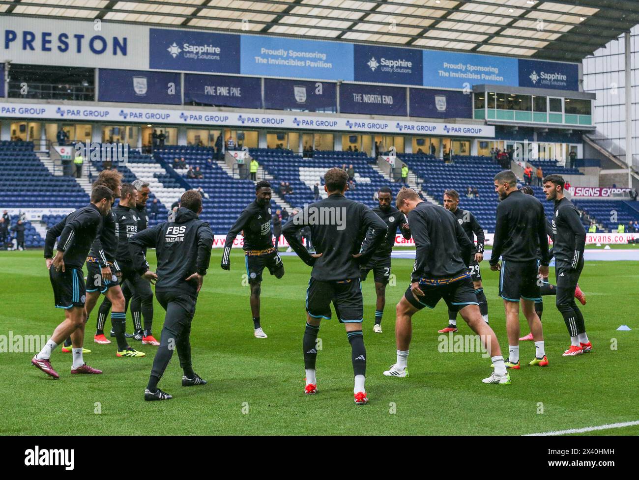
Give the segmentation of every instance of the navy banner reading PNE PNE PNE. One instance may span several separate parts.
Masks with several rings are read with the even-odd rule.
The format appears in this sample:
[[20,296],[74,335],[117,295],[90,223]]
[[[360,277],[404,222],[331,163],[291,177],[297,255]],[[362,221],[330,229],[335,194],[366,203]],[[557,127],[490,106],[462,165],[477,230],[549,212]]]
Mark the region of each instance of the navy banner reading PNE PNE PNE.
[[184,75],[184,103],[261,109],[261,80],[230,75]]

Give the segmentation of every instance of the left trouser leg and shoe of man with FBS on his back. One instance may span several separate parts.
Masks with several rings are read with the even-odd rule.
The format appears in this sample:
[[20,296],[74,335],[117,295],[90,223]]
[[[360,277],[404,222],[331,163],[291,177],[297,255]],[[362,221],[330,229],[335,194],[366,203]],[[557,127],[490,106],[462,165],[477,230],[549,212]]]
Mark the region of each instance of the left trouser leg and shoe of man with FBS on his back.
[[160,305],[162,305],[162,308],[166,310],[166,315],[160,336],[160,346],[157,352],[155,352],[151,375],[146,390],[144,391],[144,400],[147,401],[169,400],[172,398],[171,395],[158,389],[157,386],[162,375],[164,375],[169,361],[171,361],[173,350],[176,347],[181,333],[185,326],[189,324],[190,311],[187,311],[176,297],[178,296],[169,292],[157,292],[158,301]]

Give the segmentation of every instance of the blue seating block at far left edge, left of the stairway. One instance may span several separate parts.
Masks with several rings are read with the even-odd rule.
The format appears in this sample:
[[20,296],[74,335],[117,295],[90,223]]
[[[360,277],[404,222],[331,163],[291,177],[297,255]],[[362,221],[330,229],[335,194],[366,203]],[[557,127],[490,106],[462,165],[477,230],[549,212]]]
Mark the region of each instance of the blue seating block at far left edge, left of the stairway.
[[72,177],[54,177],[33,152],[31,142],[0,142],[0,205],[69,207],[89,203]]

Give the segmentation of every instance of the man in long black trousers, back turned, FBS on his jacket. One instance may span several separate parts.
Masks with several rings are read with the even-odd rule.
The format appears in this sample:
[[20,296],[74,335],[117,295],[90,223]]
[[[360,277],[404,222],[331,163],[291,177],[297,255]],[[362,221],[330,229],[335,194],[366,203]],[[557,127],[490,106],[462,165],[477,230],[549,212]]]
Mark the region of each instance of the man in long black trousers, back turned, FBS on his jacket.
[[[197,294],[208,269],[213,246],[213,232],[208,223],[199,220],[202,197],[197,191],[187,190],[180,199],[175,221],[159,223],[142,230],[130,240],[133,267],[146,280],[155,281],[155,296],[166,310],[161,343],[153,359],[153,368],[144,400],[169,400],[171,395],[157,385],[166,370],[173,350],[178,350],[183,370],[182,386],[205,385],[193,371],[191,361],[191,322],[196,311]],[[149,270],[144,251],[155,248],[158,266]]]

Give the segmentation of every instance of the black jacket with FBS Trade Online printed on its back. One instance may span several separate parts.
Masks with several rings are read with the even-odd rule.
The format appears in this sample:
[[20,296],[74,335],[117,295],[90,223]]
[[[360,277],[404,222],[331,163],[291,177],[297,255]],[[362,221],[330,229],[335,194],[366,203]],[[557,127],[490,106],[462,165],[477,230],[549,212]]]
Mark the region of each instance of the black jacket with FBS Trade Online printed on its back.
[[158,281],[155,291],[183,292],[197,297],[197,281],[185,281],[194,273],[206,275],[213,247],[213,232],[196,213],[180,207],[175,221],[158,223],[142,230],[128,241],[135,271],[148,270],[145,248],[155,248]]

